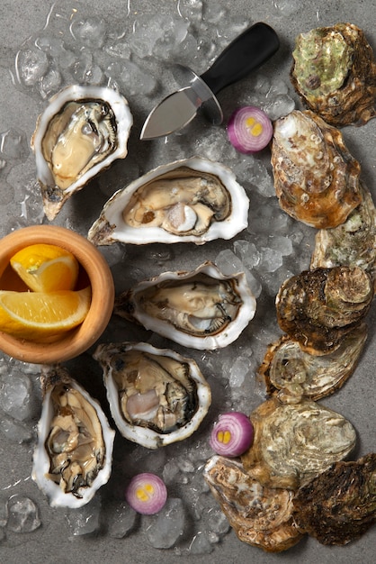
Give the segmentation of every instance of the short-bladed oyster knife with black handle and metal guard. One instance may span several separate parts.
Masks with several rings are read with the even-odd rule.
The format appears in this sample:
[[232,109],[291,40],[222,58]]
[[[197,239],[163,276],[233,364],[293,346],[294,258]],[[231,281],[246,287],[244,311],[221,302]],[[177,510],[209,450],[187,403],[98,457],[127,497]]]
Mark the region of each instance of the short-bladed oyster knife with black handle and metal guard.
[[188,86],[166,96],[150,112],[140,139],[156,139],[183,129],[192,121],[199,108],[203,109],[210,122],[221,123],[223,114],[216,95],[222,88],[260,67],[273,56],[279,45],[280,41],[273,28],[259,22],[238,35],[201,76],[191,68],[176,65],[175,79],[179,84]]

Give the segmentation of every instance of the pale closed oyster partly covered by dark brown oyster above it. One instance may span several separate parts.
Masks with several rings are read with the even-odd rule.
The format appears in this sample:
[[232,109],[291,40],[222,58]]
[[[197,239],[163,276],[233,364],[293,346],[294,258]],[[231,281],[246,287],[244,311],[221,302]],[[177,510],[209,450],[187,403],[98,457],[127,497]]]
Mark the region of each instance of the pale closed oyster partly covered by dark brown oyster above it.
[[268,394],[279,390],[284,403],[328,396],[345,384],[353,374],[367,339],[362,323],[345,335],[338,349],[323,356],[302,350],[297,341],[283,335],[268,347],[259,373],[264,377]]

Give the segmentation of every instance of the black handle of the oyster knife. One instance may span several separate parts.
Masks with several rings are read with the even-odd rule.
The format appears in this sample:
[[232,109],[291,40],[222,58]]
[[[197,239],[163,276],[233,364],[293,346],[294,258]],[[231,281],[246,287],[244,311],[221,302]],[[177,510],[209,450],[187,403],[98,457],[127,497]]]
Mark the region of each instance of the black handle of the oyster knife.
[[201,79],[216,95],[225,86],[234,84],[260,67],[279,46],[280,41],[273,28],[267,23],[255,23],[221,52]]

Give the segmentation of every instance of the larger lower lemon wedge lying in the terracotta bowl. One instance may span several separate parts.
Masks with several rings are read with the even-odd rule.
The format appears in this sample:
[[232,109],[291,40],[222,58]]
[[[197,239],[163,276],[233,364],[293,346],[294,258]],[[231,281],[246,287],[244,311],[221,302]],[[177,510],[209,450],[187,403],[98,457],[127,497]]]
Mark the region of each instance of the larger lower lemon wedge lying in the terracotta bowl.
[[73,292],[0,291],[0,331],[40,341],[73,329],[85,319],[91,288]]

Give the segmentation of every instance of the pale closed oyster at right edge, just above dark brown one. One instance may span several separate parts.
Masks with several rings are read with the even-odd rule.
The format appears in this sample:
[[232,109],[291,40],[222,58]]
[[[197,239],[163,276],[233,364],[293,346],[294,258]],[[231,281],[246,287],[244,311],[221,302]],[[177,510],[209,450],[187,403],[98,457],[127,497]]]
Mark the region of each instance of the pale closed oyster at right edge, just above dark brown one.
[[345,223],[316,234],[310,268],[361,267],[376,281],[376,209],[361,183],[362,202]]

